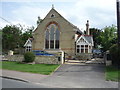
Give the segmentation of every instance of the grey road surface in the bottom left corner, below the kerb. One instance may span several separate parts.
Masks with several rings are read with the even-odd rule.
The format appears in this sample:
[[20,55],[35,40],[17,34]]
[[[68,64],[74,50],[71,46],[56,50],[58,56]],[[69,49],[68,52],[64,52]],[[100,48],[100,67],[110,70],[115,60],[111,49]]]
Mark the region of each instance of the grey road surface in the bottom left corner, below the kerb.
[[49,88],[40,84],[26,83],[22,81],[0,78],[2,80],[2,88]]

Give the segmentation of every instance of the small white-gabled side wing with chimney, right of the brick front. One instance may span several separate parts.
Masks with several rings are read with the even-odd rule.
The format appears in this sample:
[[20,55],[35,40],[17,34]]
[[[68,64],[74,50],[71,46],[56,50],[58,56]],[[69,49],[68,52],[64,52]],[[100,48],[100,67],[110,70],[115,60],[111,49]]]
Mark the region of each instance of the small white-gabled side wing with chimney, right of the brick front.
[[89,21],[86,24],[86,35],[78,35],[76,40],[76,53],[92,53],[94,43],[93,37],[89,32]]

